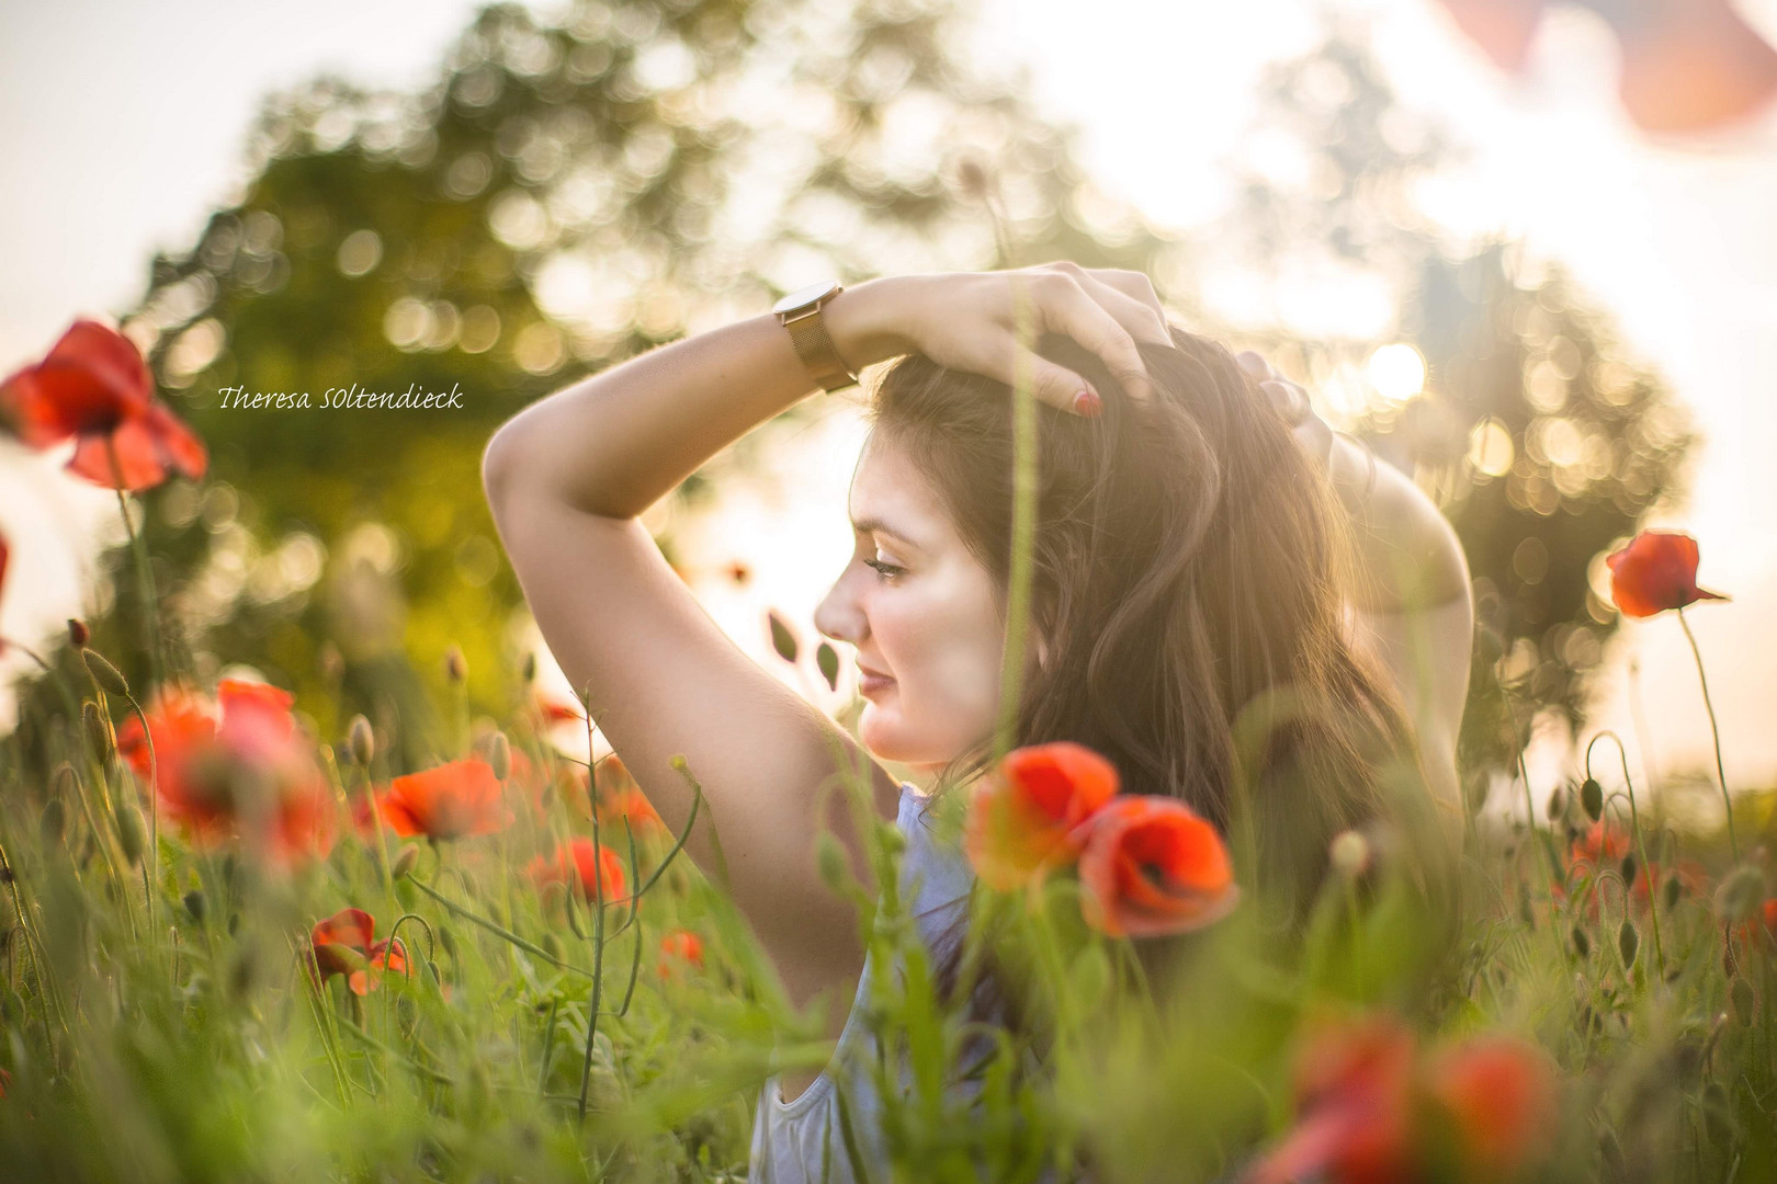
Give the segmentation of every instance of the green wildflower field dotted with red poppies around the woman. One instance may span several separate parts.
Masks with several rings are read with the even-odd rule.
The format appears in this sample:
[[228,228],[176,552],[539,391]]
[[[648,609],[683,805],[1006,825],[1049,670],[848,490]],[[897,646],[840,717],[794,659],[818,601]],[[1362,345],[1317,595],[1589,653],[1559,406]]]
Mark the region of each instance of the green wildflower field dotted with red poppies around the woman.
[[[174,470],[203,479],[203,442],[103,325],[4,392],[20,438],[78,440],[71,470],[126,515]],[[153,600],[155,540],[131,541]],[[1637,536],[1610,557],[1619,609],[1688,632],[1718,598],[1697,563],[1683,534]],[[0,541],[0,595],[28,577]],[[403,767],[361,715],[322,730],[336,705],[163,675],[188,669],[163,637],[139,639],[147,687],[82,621],[62,644],[30,651],[62,705],[30,721],[48,776],[25,728],[0,746],[0,1179],[734,1180],[766,1076],[826,1062],[721,868],[682,857],[620,758],[551,742],[562,721],[590,740],[576,705],[528,691],[471,719],[453,651],[451,698],[412,724],[428,760]],[[832,680],[832,655],[780,653]],[[874,827],[874,884],[825,840],[874,966],[906,966],[869,1015],[910,1069],[903,1090],[876,1067],[894,1179],[1777,1179],[1773,802],[1734,795],[1697,833],[1615,737],[1583,765],[1468,817],[1438,891],[1404,857],[1427,836],[1340,834],[1283,930],[1239,834],[1118,795],[1079,746],[1008,753],[944,820],[1034,983],[967,1113],[942,1086],[983,1033],[938,1001],[903,836]],[[1143,957],[1162,935],[1164,994]]]

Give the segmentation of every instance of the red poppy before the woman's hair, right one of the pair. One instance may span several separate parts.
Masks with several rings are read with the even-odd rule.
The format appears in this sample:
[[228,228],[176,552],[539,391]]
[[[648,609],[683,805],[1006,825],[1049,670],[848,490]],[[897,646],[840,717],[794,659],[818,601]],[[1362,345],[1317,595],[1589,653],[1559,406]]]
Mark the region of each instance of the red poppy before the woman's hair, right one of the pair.
[[1118,797],[1080,852],[1086,923],[1112,937],[1182,934],[1221,920],[1240,898],[1221,834],[1171,797]]

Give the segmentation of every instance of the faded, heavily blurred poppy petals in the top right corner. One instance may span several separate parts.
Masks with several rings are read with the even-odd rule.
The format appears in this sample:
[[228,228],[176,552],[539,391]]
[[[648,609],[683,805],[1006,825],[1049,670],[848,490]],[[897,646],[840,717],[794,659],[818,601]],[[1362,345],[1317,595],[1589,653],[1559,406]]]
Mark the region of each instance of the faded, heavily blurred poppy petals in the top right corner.
[[[1443,0],[1500,67],[1519,73],[1544,0]],[[1727,0],[1585,4],[1622,46],[1622,108],[1649,131],[1699,131],[1750,115],[1777,94],[1777,50]]]

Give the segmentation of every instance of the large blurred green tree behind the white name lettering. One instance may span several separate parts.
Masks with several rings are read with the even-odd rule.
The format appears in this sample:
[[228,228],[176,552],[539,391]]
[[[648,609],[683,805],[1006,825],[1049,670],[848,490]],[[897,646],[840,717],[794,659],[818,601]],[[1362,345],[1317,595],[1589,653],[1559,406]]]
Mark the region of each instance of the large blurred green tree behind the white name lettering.
[[[238,201],[153,261],[123,318],[213,454],[206,486],[147,499],[156,611],[197,655],[181,673],[254,664],[325,735],[357,710],[403,722],[398,763],[421,763],[458,742],[428,708],[448,644],[476,706],[517,692],[521,593],[480,458],[528,401],[810,277],[1002,266],[954,183],[970,158],[992,160],[1016,263],[1153,266],[1166,243],[968,39],[951,0],[579,0],[558,25],[492,5],[423,94],[322,78],[274,96]],[[309,407],[233,407],[236,387]],[[354,387],[460,398],[323,408]],[[114,573],[121,618],[96,637],[140,683],[123,644],[140,605]]]

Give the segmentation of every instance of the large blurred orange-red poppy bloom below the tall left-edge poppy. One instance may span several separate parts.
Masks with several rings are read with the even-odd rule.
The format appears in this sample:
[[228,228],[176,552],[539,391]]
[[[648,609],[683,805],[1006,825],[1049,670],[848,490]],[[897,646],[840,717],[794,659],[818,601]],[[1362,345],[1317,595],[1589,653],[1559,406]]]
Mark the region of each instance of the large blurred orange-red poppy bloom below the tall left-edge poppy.
[[[195,843],[240,836],[275,863],[323,857],[334,841],[334,799],[290,714],[295,698],[268,683],[224,678],[211,701],[169,683],[147,708],[160,808]],[[117,754],[149,783],[147,738],[131,715]]]

